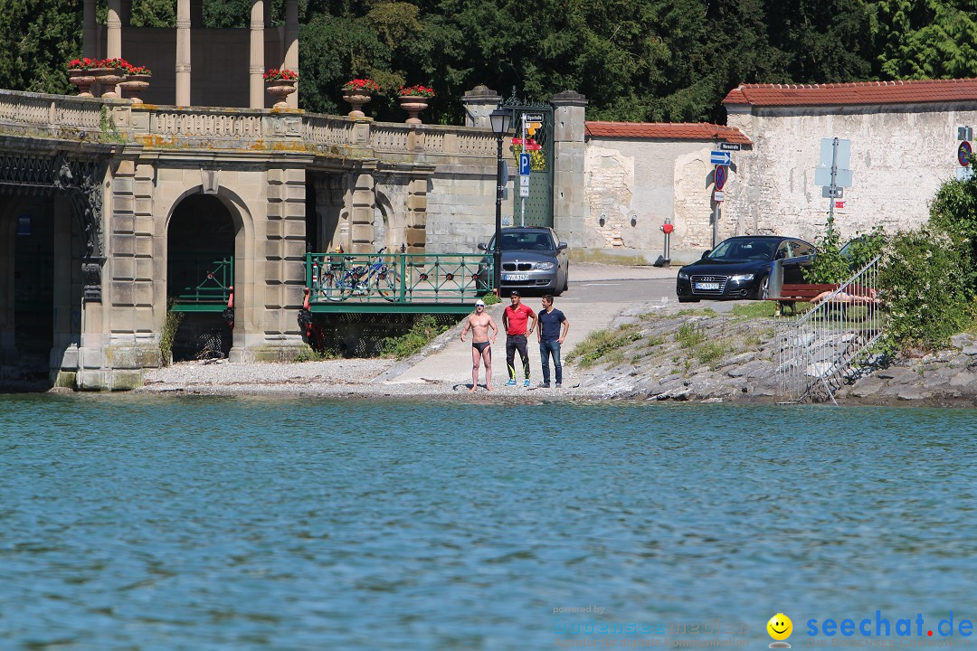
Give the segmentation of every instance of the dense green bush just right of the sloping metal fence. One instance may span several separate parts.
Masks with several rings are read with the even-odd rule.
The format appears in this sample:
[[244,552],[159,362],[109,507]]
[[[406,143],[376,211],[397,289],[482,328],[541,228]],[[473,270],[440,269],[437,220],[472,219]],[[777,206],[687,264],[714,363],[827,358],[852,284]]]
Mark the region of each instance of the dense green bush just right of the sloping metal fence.
[[971,321],[963,255],[945,232],[923,227],[897,235],[879,266],[880,296],[893,346],[936,348]]

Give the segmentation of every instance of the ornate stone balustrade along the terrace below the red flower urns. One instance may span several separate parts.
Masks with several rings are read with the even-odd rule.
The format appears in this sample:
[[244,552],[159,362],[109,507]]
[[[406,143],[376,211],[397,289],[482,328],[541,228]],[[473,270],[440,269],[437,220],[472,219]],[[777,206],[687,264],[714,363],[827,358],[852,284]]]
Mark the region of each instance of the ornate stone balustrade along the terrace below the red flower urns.
[[305,150],[439,164],[494,158],[485,129],[406,125],[304,111],[180,107],[0,90],[0,133],[157,148]]

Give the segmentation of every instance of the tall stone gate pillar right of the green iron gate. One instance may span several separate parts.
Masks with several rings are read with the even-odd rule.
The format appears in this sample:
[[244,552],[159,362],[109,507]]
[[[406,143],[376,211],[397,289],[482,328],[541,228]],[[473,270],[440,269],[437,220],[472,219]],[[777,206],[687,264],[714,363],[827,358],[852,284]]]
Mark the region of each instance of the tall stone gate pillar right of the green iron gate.
[[553,227],[573,247],[584,245],[583,193],[587,99],[574,91],[553,96]]

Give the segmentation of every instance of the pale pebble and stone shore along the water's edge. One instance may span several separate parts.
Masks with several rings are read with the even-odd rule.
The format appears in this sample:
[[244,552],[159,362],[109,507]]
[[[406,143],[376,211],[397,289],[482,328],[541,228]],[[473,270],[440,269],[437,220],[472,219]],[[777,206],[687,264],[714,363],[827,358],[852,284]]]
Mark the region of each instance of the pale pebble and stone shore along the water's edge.
[[[698,329],[721,343],[718,356],[701,361],[701,349],[683,346],[676,333]],[[459,326],[460,327],[460,326]],[[639,305],[618,315],[612,330],[628,341],[586,369],[565,364],[564,387],[471,386],[467,368],[439,377],[398,382],[405,367],[437,354],[456,340],[456,329],[410,360],[333,359],[302,363],[184,362],[149,371],[139,392],[182,395],[279,395],[400,399],[466,399],[475,402],[695,401],[774,403],[776,373],[769,319],[697,314],[674,307]],[[897,359],[837,393],[840,404],[971,406],[977,401],[977,341],[957,335],[952,348]],[[538,360],[533,360],[538,364]]]

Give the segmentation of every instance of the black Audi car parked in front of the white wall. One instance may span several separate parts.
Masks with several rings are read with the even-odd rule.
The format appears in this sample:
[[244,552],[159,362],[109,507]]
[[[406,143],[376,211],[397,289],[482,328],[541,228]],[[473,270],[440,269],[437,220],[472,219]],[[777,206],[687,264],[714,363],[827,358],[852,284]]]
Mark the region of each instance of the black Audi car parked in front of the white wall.
[[701,299],[767,298],[770,269],[775,260],[784,268],[784,282],[804,282],[815,248],[810,242],[780,235],[730,237],[701,260],[678,270],[675,294],[679,303]]

